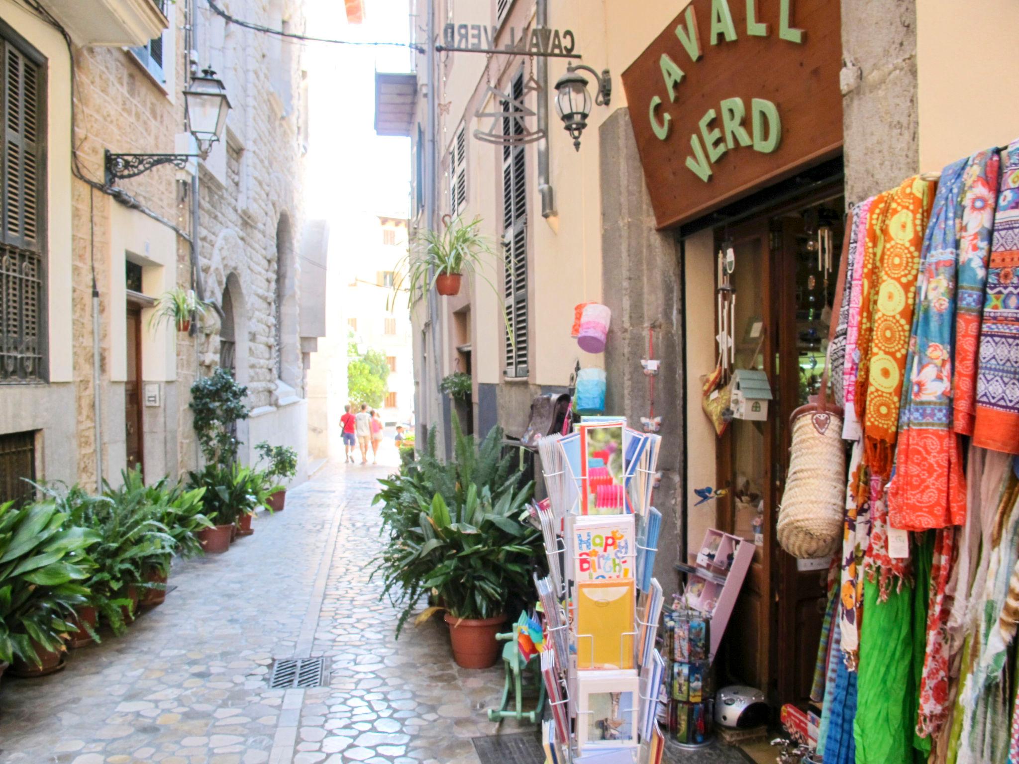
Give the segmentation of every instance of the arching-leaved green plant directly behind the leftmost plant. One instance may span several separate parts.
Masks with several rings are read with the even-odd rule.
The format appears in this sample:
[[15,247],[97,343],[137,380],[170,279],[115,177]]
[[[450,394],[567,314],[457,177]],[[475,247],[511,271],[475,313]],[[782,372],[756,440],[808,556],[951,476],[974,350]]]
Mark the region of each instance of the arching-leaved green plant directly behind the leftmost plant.
[[173,537],[141,492],[91,496],[79,486],[65,489],[59,484],[43,490],[72,525],[90,529],[99,537],[89,549],[95,563],[86,582],[91,592],[89,604],[113,634],[123,634],[127,627],[124,613],[133,607],[132,594],[147,588],[149,570],[165,564],[173,553]]

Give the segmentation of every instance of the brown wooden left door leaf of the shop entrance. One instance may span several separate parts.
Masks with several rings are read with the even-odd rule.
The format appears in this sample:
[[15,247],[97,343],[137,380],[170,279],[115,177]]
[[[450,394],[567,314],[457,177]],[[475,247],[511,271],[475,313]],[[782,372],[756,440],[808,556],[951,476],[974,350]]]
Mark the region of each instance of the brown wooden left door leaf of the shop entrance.
[[[771,263],[766,218],[719,232],[717,245],[731,238],[736,255],[735,341],[737,369],[760,369],[774,377]],[[716,248],[717,249],[717,248]],[[772,383],[773,387],[773,383]],[[763,422],[733,420],[718,443],[717,527],[755,544],[754,557],[729,621],[726,673],[735,681],[768,688],[773,673],[772,549],[775,501],[771,490],[774,408]],[[694,543],[699,543],[699,539]]]

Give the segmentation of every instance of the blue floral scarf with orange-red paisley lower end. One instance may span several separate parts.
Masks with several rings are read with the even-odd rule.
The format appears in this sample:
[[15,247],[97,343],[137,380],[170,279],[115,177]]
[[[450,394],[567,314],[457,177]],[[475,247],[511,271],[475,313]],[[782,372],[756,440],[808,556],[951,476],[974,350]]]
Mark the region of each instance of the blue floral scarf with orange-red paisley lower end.
[[905,531],[966,522],[962,449],[951,428],[956,210],[967,161],[960,159],[942,171],[923,235],[899,415],[896,479],[889,487],[889,522]]

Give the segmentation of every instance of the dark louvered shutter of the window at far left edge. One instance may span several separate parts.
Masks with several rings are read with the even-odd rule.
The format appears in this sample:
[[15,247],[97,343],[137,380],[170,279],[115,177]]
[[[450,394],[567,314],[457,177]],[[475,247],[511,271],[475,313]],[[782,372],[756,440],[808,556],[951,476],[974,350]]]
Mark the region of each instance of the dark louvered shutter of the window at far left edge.
[[46,379],[45,71],[9,41],[2,55],[0,383]]

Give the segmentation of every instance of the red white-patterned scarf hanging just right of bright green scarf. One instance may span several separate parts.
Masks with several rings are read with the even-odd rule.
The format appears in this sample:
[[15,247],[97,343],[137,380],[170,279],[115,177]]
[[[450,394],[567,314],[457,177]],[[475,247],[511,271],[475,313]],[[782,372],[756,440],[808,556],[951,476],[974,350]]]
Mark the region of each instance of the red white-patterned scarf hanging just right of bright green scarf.
[[930,592],[927,602],[926,648],[923,675],[920,679],[920,704],[916,733],[920,738],[935,738],[948,719],[949,705],[949,613],[952,598],[948,595],[949,579],[956,553],[955,528],[940,529],[934,536],[933,559],[930,563]]

